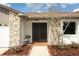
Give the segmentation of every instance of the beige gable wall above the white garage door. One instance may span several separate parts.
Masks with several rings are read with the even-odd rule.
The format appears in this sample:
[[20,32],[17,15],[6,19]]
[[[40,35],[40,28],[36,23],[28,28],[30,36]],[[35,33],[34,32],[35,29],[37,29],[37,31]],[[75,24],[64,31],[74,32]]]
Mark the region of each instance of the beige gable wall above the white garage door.
[[9,11],[5,8],[0,7],[0,24],[8,25],[9,23]]

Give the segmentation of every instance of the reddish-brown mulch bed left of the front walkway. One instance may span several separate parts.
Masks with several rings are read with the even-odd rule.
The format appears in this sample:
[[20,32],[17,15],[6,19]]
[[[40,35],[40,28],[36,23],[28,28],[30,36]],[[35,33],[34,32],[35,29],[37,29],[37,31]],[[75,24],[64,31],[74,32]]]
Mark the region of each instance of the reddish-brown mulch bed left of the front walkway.
[[20,51],[16,51],[15,49],[9,49],[5,53],[3,53],[2,56],[4,56],[4,55],[6,55],[6,56],[24,56],[24,55],[28,55],[28,53],[31,49],[31,45],[23,46],[20,49],[21,49]]

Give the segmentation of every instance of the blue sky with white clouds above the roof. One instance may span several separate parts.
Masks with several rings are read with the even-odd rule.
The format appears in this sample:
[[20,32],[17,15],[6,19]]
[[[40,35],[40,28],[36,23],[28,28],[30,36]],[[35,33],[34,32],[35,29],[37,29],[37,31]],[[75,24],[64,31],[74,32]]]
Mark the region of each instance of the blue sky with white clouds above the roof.
[[10,8],[23,13],[28,12],[76,12],[79,11],[79,3],[4,3]]

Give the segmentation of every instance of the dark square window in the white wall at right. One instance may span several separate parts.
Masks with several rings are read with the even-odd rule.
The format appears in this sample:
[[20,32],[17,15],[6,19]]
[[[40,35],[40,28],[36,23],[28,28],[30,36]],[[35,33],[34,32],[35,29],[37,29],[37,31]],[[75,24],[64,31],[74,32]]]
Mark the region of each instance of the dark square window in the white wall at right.
[[63,22],[64,34],[76,34],[76,22]]

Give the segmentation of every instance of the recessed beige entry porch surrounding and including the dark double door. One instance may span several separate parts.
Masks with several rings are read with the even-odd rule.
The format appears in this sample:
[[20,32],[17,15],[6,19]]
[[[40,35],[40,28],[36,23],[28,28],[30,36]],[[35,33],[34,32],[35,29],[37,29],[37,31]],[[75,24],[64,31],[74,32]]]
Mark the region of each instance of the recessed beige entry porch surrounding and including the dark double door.
[[21,20],[21,38],[30,36],[29,43],[49,42],[48,18],[28,18]]

